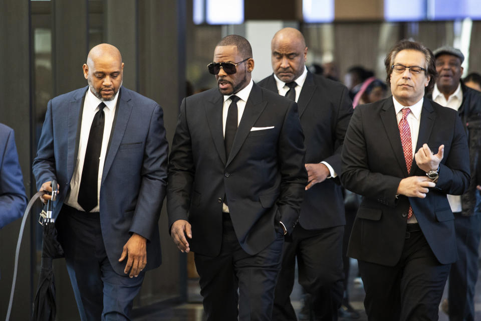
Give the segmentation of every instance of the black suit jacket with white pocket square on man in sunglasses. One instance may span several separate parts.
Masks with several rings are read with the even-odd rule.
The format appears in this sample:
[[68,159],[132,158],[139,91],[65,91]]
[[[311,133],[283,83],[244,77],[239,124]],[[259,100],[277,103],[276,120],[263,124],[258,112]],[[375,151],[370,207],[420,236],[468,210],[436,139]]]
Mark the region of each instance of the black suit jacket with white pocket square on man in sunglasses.
[[[254,84],[226,159],[223,96],[217,88],[182,101],[170,154],[167,212],[192,226],[192,251],[216,256],[222,201],[240,246],[253,255],[279,233],[291,232],[307,182],[297,104]],[[252,130],[253,127],[273,127]]]

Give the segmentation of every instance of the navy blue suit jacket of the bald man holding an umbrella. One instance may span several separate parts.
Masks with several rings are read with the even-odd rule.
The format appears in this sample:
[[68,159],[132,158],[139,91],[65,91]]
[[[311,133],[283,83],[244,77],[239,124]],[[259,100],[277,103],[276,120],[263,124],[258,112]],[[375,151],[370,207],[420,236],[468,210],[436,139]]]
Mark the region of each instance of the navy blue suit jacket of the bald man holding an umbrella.
[[[60,185],[53,217],[59,215],[76,166],[78,126],[88,87],[49,101],[33,173],[40,189],[56,179]],[[147,239],[147,265],[160,265],[158,219],[167,183],[168,143],[162,108],[153,100],[121,87],[100,188],[100,223],[114,270],[132,233]]]

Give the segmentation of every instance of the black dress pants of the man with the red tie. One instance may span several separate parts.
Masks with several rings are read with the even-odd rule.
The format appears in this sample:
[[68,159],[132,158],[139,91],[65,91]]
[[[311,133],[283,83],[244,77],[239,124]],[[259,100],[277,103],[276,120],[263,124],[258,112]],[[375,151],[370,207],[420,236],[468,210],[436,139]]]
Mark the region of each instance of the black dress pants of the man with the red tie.
[[408,224],[395,266],[359,261],[368,320],[437,320],[449,267],[437,261],[419,225]]

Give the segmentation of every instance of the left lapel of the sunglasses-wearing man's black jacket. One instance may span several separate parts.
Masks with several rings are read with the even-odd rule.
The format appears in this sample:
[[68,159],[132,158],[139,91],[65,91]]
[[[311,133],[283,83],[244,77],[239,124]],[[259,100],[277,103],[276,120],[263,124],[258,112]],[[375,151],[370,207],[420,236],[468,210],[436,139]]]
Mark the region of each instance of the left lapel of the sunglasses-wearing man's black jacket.
[[222,163],[225,165],[224,134],[222,130],[222,97],[220,93],[213,95],[205,104],[205,114],[215,148]]

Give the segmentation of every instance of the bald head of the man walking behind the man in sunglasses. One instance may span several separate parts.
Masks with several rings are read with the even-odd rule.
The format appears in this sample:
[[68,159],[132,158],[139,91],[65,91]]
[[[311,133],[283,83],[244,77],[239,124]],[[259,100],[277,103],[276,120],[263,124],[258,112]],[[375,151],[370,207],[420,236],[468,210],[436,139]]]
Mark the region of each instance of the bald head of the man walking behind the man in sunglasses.
[[295,81],[302,75],[307,58],[306,41],[294,28],[279,30],[271,42],[272,69],[276,76],[286,82]]

